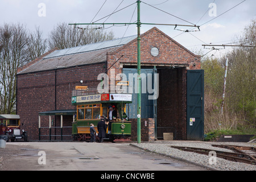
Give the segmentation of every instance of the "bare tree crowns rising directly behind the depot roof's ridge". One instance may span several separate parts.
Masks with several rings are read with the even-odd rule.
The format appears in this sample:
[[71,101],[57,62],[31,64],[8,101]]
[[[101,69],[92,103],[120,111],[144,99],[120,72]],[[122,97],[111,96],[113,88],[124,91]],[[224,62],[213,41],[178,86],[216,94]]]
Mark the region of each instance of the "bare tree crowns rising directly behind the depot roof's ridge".
[[97,28],[80,29],[69,26],[67,23],[59,23],[49,34],[49,48],[60,49],[82,46],[104,40],[114,39],[112,31],[104,32]]

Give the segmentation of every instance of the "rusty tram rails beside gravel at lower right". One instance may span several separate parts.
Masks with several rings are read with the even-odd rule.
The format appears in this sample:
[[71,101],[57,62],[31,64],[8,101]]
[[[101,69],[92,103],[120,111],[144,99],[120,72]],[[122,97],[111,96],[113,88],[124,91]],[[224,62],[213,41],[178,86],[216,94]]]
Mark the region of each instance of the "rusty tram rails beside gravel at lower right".
[[[209,155],[210,151],[215,151],[216,156],[218,158],[231,160],[234,162],[241,162],[247,164],[254,164],[256,165],[256,159],[253,155],[248,154],[248,152],[225,152],[225,151],[218,151],[218,150],[211,150],[207,148],[195,148],[195,147],[180,147],[180,146],[171,146],[172,148],[177,148],[179,150],[188,151],[188,152],[196,152],[199,154]],[[222,147],[225,148],[225,147]],[[254,147],[253,147],[254,148]],[[255,151],[255,148],[254,148]]]

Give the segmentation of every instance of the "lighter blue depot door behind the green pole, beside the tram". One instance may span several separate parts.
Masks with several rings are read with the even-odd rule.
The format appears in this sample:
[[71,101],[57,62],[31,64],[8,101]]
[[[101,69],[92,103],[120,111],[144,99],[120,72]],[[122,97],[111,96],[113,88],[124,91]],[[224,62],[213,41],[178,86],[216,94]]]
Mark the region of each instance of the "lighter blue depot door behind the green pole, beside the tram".
[[[133,93],[133,103],[126,104],[126,114],[129,118],[137,118],[137,69],[136,68],[123,68],[123,74],[126,75],[127,81],[129,81],[128,92]],[[130,75],[129,75],[130,74]],[[154,100],[148,100],[148,96],[152,95],[148,93],[150,86],[154,88],[154,81],[151,85],[148,85],[148,77],[154,77],[154,69],[141,69],[142,77],[142,94],[141,94],[141,118],[154,118]],[[129,79],[130,78],[130,79]],[[152,79],[154,80],[154,78]]]

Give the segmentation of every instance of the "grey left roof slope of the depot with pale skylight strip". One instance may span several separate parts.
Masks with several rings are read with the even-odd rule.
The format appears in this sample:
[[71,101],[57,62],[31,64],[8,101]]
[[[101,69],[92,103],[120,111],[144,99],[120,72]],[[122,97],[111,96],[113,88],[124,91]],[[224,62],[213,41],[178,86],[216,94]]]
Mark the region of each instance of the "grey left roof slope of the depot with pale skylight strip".
[[23,73],[74,67],[77,65],[102,63],[106,61],[107,52],[114,51],[114,49],[131,42],[131,40],[134,40],[135,38],[137,38],[137,35],[87,44],[85,46],[56,50],[49,53],[47,56],[44,56],[39,61],[36,61],[29,67],[23,69],[18,73],[18,75]]

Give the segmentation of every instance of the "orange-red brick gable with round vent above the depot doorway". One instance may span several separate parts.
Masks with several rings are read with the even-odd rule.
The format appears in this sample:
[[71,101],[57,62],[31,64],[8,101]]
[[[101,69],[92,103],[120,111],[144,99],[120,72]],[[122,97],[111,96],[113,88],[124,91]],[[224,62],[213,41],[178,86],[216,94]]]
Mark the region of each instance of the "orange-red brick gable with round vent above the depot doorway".
[[[159,49],[158,56],[151,55],[151,48]],[[113,65],[113,63],[123,57]],[[121,73],[120,64],[137,64],[137,39],[114,52],[108,53],[108,68],[113,65],[115,73]],[[175,40],[164,34],[158,28],[152,28],[141,35],[141,64],[183,64],[188,69],[200,69],[200,56],[194,55]],[[110,76],[110,71],[108,72]]]

